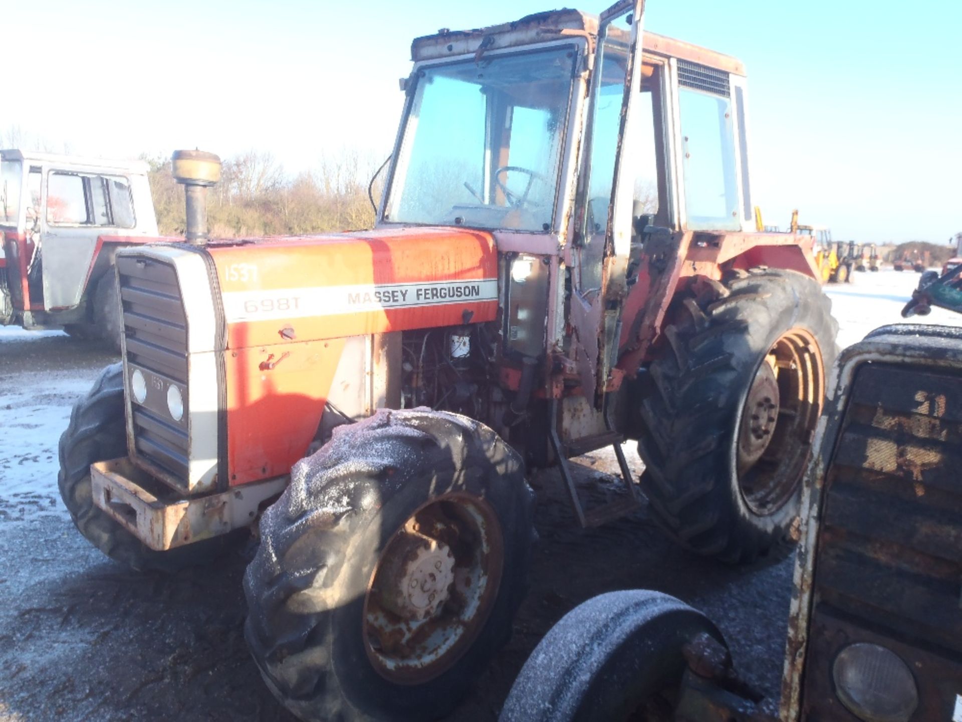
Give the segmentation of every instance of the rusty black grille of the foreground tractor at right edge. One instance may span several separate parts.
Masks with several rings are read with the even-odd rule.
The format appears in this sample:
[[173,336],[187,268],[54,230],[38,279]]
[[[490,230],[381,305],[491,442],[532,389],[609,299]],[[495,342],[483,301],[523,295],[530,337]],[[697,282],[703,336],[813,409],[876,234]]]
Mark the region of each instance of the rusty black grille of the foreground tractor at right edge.
[[866,641],[921,670],[929,707],[913,719],[949,719],[941,685],[962,677],[960,468],[962,376],[865,364],[825,475],[805,718],[849,718],[830,689],[831,663]]

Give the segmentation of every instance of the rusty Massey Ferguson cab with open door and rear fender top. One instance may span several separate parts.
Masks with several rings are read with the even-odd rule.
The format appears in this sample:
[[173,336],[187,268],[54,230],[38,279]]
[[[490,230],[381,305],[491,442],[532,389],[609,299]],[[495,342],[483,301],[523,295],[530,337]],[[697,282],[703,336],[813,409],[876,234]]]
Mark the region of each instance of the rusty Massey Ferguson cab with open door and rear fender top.
[[[579,380],[599,433],[629,340],[623,302],[632,286],[637,303],[650,289],[650,239],[664,245],[656,252],[681,261],[691,248],[715,268],[759,246],[739,263],[817,275],[809,239],[739,238],[754,231],[745,66],[643,32],[643,7],[415,39],[377,218],[379,228],[491,233],[508,296],[523,297],[509,300],[507,350],[584,358]],[[679,269],[682,279],[694,268]],[[544,328],[525,327],[544,316]],[[645,345],[625,359],[629,374]]]

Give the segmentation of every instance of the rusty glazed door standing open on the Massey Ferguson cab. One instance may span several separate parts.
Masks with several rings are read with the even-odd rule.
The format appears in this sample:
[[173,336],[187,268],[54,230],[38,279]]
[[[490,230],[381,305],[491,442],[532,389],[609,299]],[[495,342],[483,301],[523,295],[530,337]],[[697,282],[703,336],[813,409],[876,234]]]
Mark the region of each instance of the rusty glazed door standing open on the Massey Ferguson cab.
[[616,362],[621,301],[631,245],[634,169],[621,163],[637,142],[645,0],[621,0],[601,13],[574,222],[571,322],[585,396],[601,408]]

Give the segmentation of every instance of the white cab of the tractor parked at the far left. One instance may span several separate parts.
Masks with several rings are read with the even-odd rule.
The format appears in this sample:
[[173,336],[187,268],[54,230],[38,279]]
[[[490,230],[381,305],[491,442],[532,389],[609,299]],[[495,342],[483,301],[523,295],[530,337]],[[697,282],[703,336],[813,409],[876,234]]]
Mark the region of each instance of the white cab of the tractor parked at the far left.
[[120,348],[114,254],[147,241],[147,164],[0,150],[0,325]]

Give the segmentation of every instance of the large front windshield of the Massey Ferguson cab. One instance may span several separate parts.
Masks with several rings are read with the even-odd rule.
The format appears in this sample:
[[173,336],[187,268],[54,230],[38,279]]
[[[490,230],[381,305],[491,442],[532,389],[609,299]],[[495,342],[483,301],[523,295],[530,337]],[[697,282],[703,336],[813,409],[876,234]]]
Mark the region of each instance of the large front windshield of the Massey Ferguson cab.
[[566,46],[422,69],[385,220],[549,230],[574,55]]

